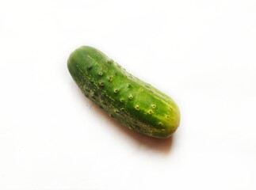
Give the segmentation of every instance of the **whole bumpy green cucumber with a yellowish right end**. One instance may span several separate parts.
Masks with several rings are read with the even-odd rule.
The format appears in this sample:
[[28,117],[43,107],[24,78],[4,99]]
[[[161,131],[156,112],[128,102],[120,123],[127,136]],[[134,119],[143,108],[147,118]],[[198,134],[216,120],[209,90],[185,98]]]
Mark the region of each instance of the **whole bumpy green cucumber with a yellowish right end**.
[[155,138],[170,137],[177,130],[180,112],[174,101],[101,51],[79,47],[67,67],[82,93],[124,126]]

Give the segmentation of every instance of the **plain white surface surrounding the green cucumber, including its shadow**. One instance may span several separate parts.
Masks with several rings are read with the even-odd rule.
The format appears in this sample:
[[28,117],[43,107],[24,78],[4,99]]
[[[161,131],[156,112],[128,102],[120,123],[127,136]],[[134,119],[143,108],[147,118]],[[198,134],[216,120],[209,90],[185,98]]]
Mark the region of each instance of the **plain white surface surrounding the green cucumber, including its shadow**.
[[[256,189],[256,2],[0,1],[0,189]],[[97,47],[181,109],[172,139],[82,96]]]

